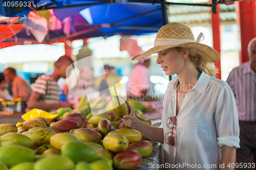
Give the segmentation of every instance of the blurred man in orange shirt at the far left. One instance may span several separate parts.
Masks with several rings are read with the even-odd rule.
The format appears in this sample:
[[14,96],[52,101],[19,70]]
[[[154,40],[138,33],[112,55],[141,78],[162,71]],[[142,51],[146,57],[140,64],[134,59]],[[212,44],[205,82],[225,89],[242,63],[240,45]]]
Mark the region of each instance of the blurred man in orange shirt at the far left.
[[4,77],[12,88],[13,99],[29,99],[29,96],[31,94],[30,85],[24,79],[16,75],[16,70],[14,68],[6,68],[4,71]]

